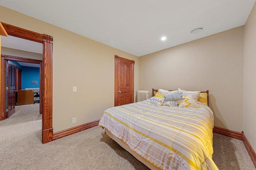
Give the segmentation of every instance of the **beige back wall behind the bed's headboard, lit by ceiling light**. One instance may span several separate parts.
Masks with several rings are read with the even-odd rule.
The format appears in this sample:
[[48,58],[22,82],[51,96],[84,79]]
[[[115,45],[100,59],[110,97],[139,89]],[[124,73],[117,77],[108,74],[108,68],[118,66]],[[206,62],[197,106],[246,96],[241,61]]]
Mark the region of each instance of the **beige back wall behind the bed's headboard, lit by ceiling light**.
[[209,90],[214,125],[241,132],[243,30],[237,27],[139,57],[139,89]]

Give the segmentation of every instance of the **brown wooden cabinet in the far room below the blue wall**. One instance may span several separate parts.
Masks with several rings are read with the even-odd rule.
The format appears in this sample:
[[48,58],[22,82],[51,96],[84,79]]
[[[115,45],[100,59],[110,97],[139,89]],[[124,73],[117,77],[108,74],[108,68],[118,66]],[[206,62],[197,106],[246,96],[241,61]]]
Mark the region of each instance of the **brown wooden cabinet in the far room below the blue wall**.
[[34,104],[33,90],[18,90],[17,105]]

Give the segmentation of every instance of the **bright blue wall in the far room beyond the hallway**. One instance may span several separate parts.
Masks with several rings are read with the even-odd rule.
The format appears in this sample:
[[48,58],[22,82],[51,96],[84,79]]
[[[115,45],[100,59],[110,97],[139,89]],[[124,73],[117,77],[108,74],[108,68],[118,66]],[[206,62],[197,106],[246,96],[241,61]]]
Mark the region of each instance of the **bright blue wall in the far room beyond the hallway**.
[[[21,88],[39,88],[40,84],[40,72],[38,67],[26,67],[22,66],[21,73]],[[32,81],[37,81],[38,85],[32,85]]]

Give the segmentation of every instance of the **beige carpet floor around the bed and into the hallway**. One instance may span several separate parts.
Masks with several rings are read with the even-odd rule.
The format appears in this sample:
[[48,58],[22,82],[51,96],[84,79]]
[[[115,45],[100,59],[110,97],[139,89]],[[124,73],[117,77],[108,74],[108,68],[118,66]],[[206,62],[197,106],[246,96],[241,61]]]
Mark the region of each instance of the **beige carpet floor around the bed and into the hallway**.
[[[43,145],[41,119],[32,104],[0,121],[1,170],[148,170],[98,126]],[[242,141],[218,134],[213,140],[220,170],[256,169]]]

